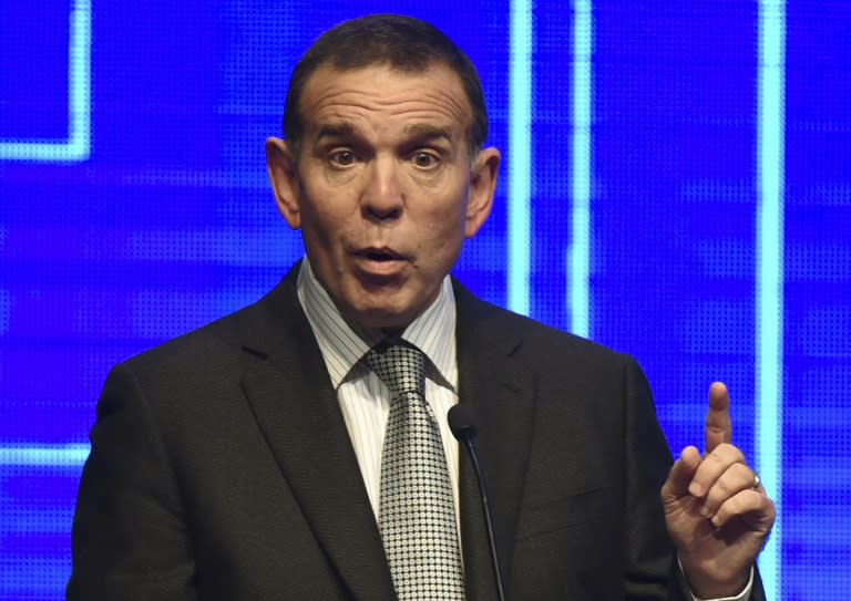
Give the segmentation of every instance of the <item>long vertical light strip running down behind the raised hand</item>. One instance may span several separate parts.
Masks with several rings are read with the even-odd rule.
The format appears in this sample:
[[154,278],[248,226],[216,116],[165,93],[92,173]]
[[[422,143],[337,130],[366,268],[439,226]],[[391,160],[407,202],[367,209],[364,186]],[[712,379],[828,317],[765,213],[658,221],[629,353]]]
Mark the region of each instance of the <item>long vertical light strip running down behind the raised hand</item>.
[[786,2],[759,2],[756,284],[756,463],[778,519],[760,553],[766,599],[782,599],[783,180]]

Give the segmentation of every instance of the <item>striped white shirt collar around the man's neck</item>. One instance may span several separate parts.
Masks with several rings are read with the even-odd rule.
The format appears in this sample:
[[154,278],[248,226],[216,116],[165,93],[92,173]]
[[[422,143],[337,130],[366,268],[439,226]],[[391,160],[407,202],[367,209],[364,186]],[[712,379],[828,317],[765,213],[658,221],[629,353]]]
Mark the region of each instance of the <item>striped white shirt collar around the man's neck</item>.
[[[319,344],[331,384],[337,390],[369,351],[369,344],[342,319],[337,305],[316,279],[307,257],[301,261],[297,289],[298,301]],[[401,338],[420,349],[440,379],[452,391],[455,390],[455,296],[449,276],[443,279],[434,302],[404,329]]]

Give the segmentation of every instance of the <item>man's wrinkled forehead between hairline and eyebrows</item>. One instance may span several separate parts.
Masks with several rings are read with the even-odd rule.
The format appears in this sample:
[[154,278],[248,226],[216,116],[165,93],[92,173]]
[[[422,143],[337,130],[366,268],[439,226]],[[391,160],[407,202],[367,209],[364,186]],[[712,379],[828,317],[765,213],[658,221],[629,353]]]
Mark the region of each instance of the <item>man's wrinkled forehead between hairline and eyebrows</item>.
[[335,122],[353,126],[429,123],[460,132],[472,123],[460,77],[441,63],[416,72],[383,64],[346,71],[324,65],[308,77],[299,104],[308,135]]

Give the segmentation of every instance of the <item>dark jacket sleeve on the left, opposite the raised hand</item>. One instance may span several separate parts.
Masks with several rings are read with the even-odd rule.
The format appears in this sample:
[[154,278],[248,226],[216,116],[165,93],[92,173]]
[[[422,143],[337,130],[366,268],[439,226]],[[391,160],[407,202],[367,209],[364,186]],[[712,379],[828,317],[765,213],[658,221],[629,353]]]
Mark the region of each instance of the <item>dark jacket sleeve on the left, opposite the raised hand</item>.
[[196,599],[180,491],[155,417],[125,364],[106,379],[91,444],[66,599]]

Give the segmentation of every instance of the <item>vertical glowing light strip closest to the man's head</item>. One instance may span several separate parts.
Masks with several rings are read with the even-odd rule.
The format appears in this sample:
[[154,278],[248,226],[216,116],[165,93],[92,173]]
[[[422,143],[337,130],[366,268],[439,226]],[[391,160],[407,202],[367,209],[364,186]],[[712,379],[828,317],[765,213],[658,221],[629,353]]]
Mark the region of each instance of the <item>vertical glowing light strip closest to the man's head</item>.
[[532,189],[532,3],[511,2],[509,66],[507,305],[529,314]]

